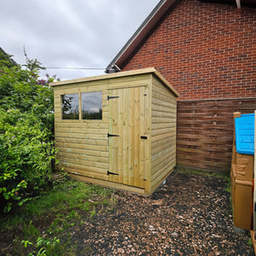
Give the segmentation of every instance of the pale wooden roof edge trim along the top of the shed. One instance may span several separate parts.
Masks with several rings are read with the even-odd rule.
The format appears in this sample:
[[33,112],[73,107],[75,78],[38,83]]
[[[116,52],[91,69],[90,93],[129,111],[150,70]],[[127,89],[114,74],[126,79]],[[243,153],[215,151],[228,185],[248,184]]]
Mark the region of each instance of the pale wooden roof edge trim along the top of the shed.
[[115,78],[121,78],[125,76],[133,76],[133,75],[140,75],[140,74],[146,74],[146,73],[154,73],[154,75],[160,79],[166,86],[172,90],[172,92],[175,94],[175,96],[179,97],[179,94],[177,90],[175,90],[170,84],[154,67],[148,67],[143,68],[139,70],[131,70],[131,71],[124,71],[119,73],[109,73],[109,74],[103,74],[99,76],[93,76],[93,77],[87,77],[83,79],[71,79],[66,81],[60,81],[60,82],[54,82],[50,83],[50,86],[57,86],[57,85],[67,85],[67,84],[79,84],[83,82],[90,82],[90,81],[96,81],[96,80],[103,80],[103,79],[115,79]]

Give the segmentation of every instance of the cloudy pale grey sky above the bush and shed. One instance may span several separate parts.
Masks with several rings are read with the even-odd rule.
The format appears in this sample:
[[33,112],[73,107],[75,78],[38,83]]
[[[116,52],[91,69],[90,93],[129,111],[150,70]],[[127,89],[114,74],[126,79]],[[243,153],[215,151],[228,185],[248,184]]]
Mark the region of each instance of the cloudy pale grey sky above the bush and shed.
[[103,74],[160,0],[1,0],[0,47],[19,64],[26,57],[61,80]]

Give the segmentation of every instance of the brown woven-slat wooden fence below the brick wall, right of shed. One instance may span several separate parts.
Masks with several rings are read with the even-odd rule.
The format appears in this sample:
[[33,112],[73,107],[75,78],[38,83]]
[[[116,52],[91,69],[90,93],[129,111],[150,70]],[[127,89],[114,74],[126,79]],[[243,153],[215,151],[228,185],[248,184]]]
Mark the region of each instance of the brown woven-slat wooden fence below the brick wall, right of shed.
[[256,98],[177,102],[177,166],[230,172],[233,113],[254,113]]

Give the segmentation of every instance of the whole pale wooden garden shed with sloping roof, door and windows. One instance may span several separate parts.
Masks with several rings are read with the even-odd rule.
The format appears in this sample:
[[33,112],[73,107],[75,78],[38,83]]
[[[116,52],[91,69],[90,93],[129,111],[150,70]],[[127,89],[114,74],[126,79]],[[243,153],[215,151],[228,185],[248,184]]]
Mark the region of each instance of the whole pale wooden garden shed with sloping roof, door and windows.
[[154,68],[55,82],[56,169],[150,195],[176,165],[178,93]]

